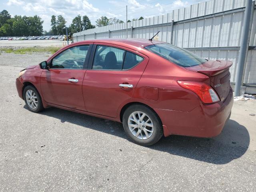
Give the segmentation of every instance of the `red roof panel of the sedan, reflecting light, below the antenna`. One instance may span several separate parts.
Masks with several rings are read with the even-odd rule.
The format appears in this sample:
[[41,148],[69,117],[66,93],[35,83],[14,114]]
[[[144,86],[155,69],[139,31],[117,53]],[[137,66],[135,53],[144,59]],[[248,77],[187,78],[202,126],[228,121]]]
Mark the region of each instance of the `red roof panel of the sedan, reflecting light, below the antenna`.
[[148,45],[165,43],[165,42],[157,41],[157,40],[150,41],[148,39],[135,39],[135,38],[130,38],[130,39],[129,38],[128,39],[94,39],[94,40],[80,41],[77,43],[81,43],[81,42],[100,42],[100,43],[110,43],[110,44],[122,43],[122,44],[136,46],[136,47],[145,47]]

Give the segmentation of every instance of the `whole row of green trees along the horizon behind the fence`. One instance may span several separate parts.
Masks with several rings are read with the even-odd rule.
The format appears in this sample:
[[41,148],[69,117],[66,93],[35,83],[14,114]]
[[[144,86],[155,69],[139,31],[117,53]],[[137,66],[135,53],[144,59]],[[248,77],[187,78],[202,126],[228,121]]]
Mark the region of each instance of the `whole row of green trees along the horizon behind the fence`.
[[[134,18],[132,21],[141,20],[143,17]],[[43,20],[35,16],[20,16],[15,15],[11,17],[7,10],[0,12],[0,36],[40,36],[44,35],[62,35],[66,34],[66,20],[62,15],[52,15],[51,29],[47,32],[43,31]],[[127,22],[131,22],[128,20]],[[106,25],[124,23],[124,21],[118,18],[108,18],[102,16],[96,20],[96,25],[93,25],[88,16],[78,15],[73,20],[70,26],[68,26],[68,33],[80,32],[82,30],[88,30],[95,27],[102,27]]]

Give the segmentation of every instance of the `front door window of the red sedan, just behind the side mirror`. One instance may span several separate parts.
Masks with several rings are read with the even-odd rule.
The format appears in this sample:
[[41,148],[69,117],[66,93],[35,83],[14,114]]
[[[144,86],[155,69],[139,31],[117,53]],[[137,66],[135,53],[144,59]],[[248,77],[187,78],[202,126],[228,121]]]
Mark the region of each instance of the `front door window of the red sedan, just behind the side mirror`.
[[82,69],[89,45],[69,48],[52,59],[51,68]]

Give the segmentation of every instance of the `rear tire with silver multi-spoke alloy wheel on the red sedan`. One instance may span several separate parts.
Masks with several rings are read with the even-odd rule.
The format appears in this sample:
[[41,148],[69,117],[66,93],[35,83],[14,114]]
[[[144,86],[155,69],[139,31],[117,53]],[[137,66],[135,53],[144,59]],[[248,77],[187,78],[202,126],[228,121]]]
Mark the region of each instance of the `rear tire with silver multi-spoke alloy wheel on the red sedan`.
[[139,145],[153,145],[160,140],[164,133],[158,115],[152,109],[144,105],[134,104],[128,107],[124,112],[122,122],[124,131],[128,137]]

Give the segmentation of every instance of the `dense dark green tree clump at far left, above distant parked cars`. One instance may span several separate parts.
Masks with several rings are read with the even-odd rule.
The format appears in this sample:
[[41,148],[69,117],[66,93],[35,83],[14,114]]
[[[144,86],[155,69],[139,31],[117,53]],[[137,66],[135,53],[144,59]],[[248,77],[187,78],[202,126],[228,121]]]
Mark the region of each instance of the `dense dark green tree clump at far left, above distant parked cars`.
[[0,12],[0,36],[39,36],[43,32],[44,21],[35,16],[11,15],[7,10]]

